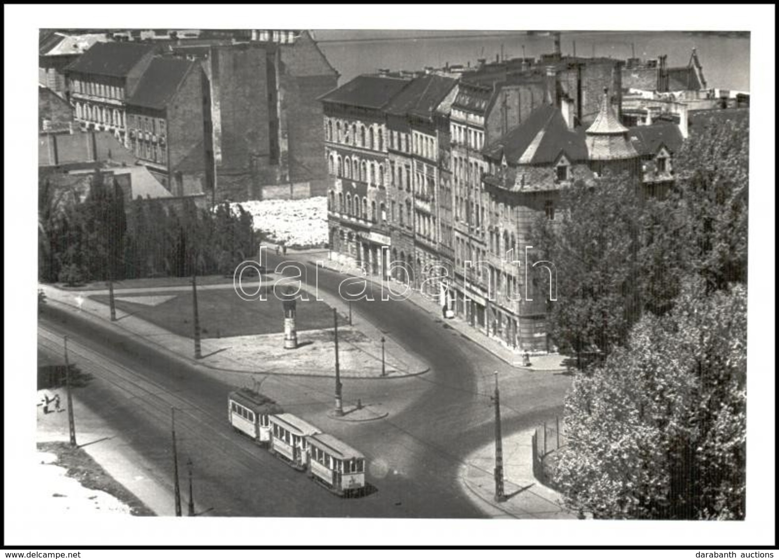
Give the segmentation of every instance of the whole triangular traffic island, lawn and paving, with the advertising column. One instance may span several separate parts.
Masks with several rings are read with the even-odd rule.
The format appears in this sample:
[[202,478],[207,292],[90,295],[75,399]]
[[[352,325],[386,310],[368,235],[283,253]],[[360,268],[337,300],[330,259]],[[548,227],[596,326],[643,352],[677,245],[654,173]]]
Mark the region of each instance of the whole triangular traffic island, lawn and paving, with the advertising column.
[[[67,291],[41,286],[47,304],[103,325],[123,329],[160,349],[213,371],[335,377],[333,308],[338,313],[338,355],[343,378],[391,379],[422,374],[428,367],[389,336],[360,320],[349,325],[347,304],[337,297],[306,293],[298,300],[297,342],[288,349],[284,308],[263,276],[266,301],[244,301],[232,284],[198,287],[201,358],[195,359],[192,287],[115,287],[116,321],[111,322],[107,290]],[[308,301],[305,301],[308,299]],[[382,342],[382,339],[384,340]]]

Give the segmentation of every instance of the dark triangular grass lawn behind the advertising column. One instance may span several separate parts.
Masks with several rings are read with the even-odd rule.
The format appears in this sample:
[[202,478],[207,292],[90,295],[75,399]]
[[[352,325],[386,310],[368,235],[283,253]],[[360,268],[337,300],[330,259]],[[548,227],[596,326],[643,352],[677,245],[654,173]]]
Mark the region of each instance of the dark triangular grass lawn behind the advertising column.
[[[253,288],[252,288],[253,290]],[[284,308],[273,295],[273,287],[263,287],[267,301],[243,301],[234,290],[198,290],[198,316],[201,336],[225,338],[284,332]],[[171,297],[157,305],[121,301],[121,297]],[[192,337],[192,290],[116,294],[116,308],[160,326],[179,336]],[[108,295],[93,295],[108,304]],[[298,301],[298,331],[332,328],[333,309],[315,301]],[[121,320],[121,315],[120,315]]]

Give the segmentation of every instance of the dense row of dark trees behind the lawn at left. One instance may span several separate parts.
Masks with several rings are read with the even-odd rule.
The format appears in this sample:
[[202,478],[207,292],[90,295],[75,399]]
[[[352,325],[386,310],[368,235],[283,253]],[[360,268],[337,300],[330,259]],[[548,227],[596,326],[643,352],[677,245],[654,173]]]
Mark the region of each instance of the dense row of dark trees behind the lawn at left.
[[43,181],[39,202],[39,275],[71,285],[108,279],[227,273],[256,255],[252,216],[240,206],[213,212],[192,199],[126,204],[100,173],[83,202]]

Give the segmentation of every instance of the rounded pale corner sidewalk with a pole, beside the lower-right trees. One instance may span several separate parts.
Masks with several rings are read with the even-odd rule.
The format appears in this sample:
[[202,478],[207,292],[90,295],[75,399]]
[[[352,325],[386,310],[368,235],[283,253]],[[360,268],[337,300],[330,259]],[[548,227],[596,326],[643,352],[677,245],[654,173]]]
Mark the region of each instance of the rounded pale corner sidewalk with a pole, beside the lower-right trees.
[[562,508],[562,496],[533,476],[530,438],[534,429],[517,431],[503,438],[503,494],[495,501],[495,444],[485,445],[469,455],[460,466],[458,481],[464,494],[492,518],[576,519]]

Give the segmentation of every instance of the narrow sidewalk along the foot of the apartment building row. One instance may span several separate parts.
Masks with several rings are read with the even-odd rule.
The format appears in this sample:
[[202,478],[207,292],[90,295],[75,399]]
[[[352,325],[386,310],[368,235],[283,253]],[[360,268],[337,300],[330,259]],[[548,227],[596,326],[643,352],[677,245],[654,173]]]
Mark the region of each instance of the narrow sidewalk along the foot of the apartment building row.
[[[304,254],[308,257],[306,258],[308,262],[313,265],[318,265],[318,262],[322,262],[326,269],[330,269],[335,272],[341,272],[349,276],[356,276],[362,279],[366,279],[379,287],[385,287],[385,289],[392,287],[393,290],[397,292],[406,287],[404,283],[397,282],[394,279],[388,282],[369,274],[363,275],[361,269],[358,267],[350,267],[348,265],[341,264],[340,262],[330,260],[330,258],[328,258],[327,251],[307,251],[305,253],[301,253],[301,256]],[[409,288],[409,295],[407,295],[407,300],[411,301],[419,308],[428,311],[428,313],[434,315],[435,317],[439,317],[441,315],[441,307],[439,306],[438,302],[428,299],[428,297],[425,297],[425,295],[421,294],[418,290]],[[512,367],[523,368],[526,371],[550,372],[566,371],[568,368],[566,367],[566,364],[564,364],[564,361],[567,359],[567,357],[559,354],[531,356],[530,367],[523,367],[523,357],[520,350],[513,350],[509,346],[506,346],[506,343],[502,340],[495,339],[492,336],[487,336],[484,332],[473,328],[464,319],[459,317],[450,318],[445,322],[445,324],[449,326],[449,328],[455,329],[467,339],[470,339],[472,342],[483,347],[485,350],[495,355],[495,357],[498,357],[500,360],[503,360]]]

